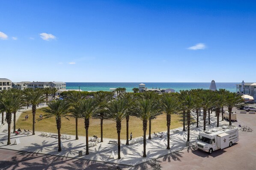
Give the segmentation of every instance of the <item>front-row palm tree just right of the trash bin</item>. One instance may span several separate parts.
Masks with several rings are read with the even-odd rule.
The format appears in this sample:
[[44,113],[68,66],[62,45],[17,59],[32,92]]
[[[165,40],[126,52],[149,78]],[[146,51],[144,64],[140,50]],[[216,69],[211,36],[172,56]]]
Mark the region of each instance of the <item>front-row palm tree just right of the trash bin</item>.
[[86,133],[86,155],[89,155],[89,145],[88,145],[88,130],[89,121],[97,111],[97,102],[93,98],[82,99],[78,102],[78,110],[82,113],[84,118],[84,128]]

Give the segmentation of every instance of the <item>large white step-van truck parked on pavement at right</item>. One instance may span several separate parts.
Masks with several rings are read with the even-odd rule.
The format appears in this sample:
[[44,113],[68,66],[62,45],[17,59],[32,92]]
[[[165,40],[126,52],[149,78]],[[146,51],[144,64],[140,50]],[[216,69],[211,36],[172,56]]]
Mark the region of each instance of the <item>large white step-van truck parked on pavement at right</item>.
[[223,124],[220,127],[200,132],[196,140],[196,147],[198,150],[211,154],[214,150],[231,147],[238,140],[238,128]]

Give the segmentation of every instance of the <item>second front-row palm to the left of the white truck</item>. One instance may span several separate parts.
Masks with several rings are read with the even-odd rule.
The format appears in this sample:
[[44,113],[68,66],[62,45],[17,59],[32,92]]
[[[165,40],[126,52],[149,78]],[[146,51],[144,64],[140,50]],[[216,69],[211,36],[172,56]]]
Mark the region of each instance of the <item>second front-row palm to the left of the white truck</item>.
[[170,150],[170,125],[171,125],[171,116],[177,112],[179,108],[178,100],[175,96],[170,93],[165,93],[161,97],[161,107],[163,113],[166,115],[167,121],[167,149]]

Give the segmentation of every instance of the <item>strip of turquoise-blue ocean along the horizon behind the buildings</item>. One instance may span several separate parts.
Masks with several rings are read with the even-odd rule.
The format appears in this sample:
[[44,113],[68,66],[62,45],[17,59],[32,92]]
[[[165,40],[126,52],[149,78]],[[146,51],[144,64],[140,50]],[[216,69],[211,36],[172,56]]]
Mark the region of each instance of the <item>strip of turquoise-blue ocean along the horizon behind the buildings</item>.
[[[190,90],[190,89],[209,89],[211,82],[209,83],[145,83],[146,87],[151,89],[175,89],[176,92],[179,90]],[[141,83],[66,83],[66,89],[80,89],[83,91],[110,91],[110,88],[125,87],[126,92],[132,92],[134,87],[139,87]],[[230,92],[236,92],[236,84],[239,83],[217,83],[217,89],[226,89]]]

